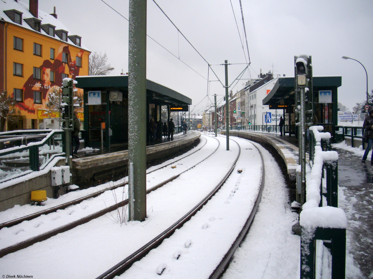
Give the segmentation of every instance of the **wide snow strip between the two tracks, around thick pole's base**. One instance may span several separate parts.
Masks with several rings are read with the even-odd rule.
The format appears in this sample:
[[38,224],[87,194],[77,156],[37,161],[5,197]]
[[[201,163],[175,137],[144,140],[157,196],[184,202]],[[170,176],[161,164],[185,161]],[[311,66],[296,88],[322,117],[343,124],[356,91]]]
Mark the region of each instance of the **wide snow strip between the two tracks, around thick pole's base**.
[[[216,153],[147,196],[144,222],[120,225],[113,221],[117,215],[112,212],[2,257],[0,270],[5,274],[29,274],[34,278],[97,277],[185,215],[216,186],[238,154],[235,142],[231,142],[231,151],[226,151],[225,138],[218,140],[220,146]],[[178,168],[169,166],[170,171]],[[74,214],[71,210],[71,215]]]

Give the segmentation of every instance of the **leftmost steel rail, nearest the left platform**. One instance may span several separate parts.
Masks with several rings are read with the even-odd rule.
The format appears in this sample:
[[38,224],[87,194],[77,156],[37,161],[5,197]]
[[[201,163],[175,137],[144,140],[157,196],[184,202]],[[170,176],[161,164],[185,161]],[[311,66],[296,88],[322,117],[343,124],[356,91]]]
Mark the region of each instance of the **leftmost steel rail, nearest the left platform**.
[[[203,147],[206,145],[206,143],[207,143],[207,141],[206,141],[203,145],[201,145],[201,147],[198,147],[197,150],[193,151],[192,153],[190,153],[190,154],[188,154],[188,155],[186,155],[186,156],[184,156],[184,157],[182,157],[182,158],[179,158],[178,160],[172,161],[172,162],[169,163],[169,164],[166,164],[166,165],[164,165],[164,166],[161,166],[161,167],[159,167],[159,168],[157,168],[157,169],[155,169],[155,170],[149,171],[149,172],[147,172],[147,174],[152,173],[153,171],[156,171],[156,170],[162,169],[162,168],[164,168],[164,167],[167,167],[167,166],[169,166],[170,164],[174,164],[174,163],[176,163],[177,161],[180,161],[180,160],[182,160],[182,159],[184,159],[184,158],[186,158],[186,157],[188,157],[188,156],[194,154],[194,153],[197,152],[198,150],[201,150],[201,148],[203,148]],[[43,214],[49,214],[49,213],[52,213],[52,212],[56,212],[56,211],[59,210],[59,209],[64,209],[64,208],[66,208],[66,207],[68,207],[68,206],[70,206],[70,205],[78,204],[78,203],[80,203],[80,202],[82,202],[82,201],[85,201],[86,199],[90,199],[90,198],[97,197],[98,195],[101,195],[102,193],[104,193],[104,192],[106,192],[106,191],[108,191],[108,190],[114,190],[114,189],[116,189],[116,188],[118,188],[118,187],[122,187],[122,186],[127,185],[127,184],[128,184],[128,182],[123,182],[123,183],[120,183],[120,184],[118,184],[118,185],[115,185],[115,186],[111,186],[111,187],[105,188],[105,189],[100,190],[100,191],[98,191],[98,192],[94,192],[94,193],[92,193],[92,194],[90,194],[90,195],[87,195],[87,196],[84,196],[84,197],[81,197],[81,198],[75,199],[75,200],[73,200],[73,201],[65,202],[65,203],[62,203],[62,204],[60,204],[60,205],[56,205],[56,206],[53,206],[53,207],[51,207],[51,208],[48,208],[48,209],[44,209],[44,210],[41,210],[41,211],[35,212],[35,213],[33,213],[33,214],[29,214],[29,215],[26,215],[26,216],[23,216],[23,217],[20,217],[20,218],[16,218],[16,219],[13,219],[13,220],[10,220],[10,221],[3,222],[3,223],[0,224],[0,229],[1,229],[1,228],[4,228],[4,227],[8,227],[8,228],[9,228],[9,227],[12,227],[12,226],[14,226],[14,225],[17,225],[17,224],[23,222],[23,221],[29,221],[29,220],[32,220],[32,219],[34,219],[34,218],[37,218],[37,217],[39,217],[40,215],[43,215]]]

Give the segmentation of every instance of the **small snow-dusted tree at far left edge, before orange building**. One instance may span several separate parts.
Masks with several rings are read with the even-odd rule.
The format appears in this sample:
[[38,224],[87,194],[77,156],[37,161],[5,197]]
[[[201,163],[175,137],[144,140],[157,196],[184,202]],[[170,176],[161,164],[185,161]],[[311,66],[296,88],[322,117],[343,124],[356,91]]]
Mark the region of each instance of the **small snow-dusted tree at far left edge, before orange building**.
[[6,92],[0,92],[0,132],[5,132],[5,126],[18,121],[21,111],[16,108],[16,100]]

